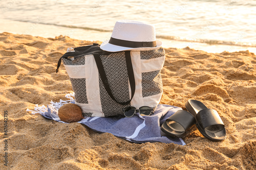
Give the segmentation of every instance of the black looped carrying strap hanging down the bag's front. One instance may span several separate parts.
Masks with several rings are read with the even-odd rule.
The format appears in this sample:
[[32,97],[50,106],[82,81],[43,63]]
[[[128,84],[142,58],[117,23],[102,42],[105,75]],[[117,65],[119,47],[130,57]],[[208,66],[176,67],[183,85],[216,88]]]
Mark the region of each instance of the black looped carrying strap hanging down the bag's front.
[[103,83],[107,93],[109,94],[109,96],[115,102],[117,102],[118,104],[121,104],[123,106],[127,106],[131,102],[131,100],[134,96],[134,93],[135,93],[135,78],[134,78],[133,67],[132,67],[131,51],[125,51],[125,61],[126,61],[126,68],[127,68],[127,72],[128,72],[128,78],[129,78],[129,83],[130,83],[130,87],[131,87],[131,92],[132,92],[131,95],[132,96],[131,96],[130,100],[125,101],[125,102],[119,102],[113,96],[112,91],[111,91],[110,86],[109,86],[108,78],[106,76],[106,72],[103,68],[103,64],[102,64],[101,59],[100,59],[100,54],[99,53],[92,53],[92,54],[93,54],[93,57],[95,59],[97,68],[99,70],[99,74],[100,74],[102,83]]

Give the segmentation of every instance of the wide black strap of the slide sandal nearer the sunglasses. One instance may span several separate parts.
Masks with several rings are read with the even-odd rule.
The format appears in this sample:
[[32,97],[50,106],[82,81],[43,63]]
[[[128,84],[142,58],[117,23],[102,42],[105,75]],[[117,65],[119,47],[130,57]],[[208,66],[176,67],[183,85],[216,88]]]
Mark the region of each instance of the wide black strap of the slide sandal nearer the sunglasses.
[[188,132],[191,129],[190,127],[193,124],[196,124],[195,117],[185,110],[178,110],[173,115],[171,115],[167,120],[172,120],[179,123],[185,129],[185,132]]

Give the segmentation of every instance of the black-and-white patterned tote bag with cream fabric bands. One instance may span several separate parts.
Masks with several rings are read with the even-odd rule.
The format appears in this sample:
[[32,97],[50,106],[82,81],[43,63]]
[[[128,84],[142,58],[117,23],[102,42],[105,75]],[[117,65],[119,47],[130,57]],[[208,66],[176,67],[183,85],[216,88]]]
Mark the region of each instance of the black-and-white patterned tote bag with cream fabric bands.
[[[162,47],[150,51],[109,52],[93,45],[69,47],[61,61],[70,77],[75,103],[83,116],[107,117],[127,106],[156,108],[162,93]],[[72,58],[72,60],[70,59]]]

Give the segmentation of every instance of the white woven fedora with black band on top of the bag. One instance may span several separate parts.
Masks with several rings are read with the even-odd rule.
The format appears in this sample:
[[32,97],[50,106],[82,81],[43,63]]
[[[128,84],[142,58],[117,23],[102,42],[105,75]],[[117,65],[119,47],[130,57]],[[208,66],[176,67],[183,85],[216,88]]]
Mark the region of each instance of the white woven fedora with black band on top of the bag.
[[110,40],[104,41],[100,48],[110,52],[148,51],[159,49],[162,44],[162,41],[156,39],[154,25],[124,19],[115,23]]

